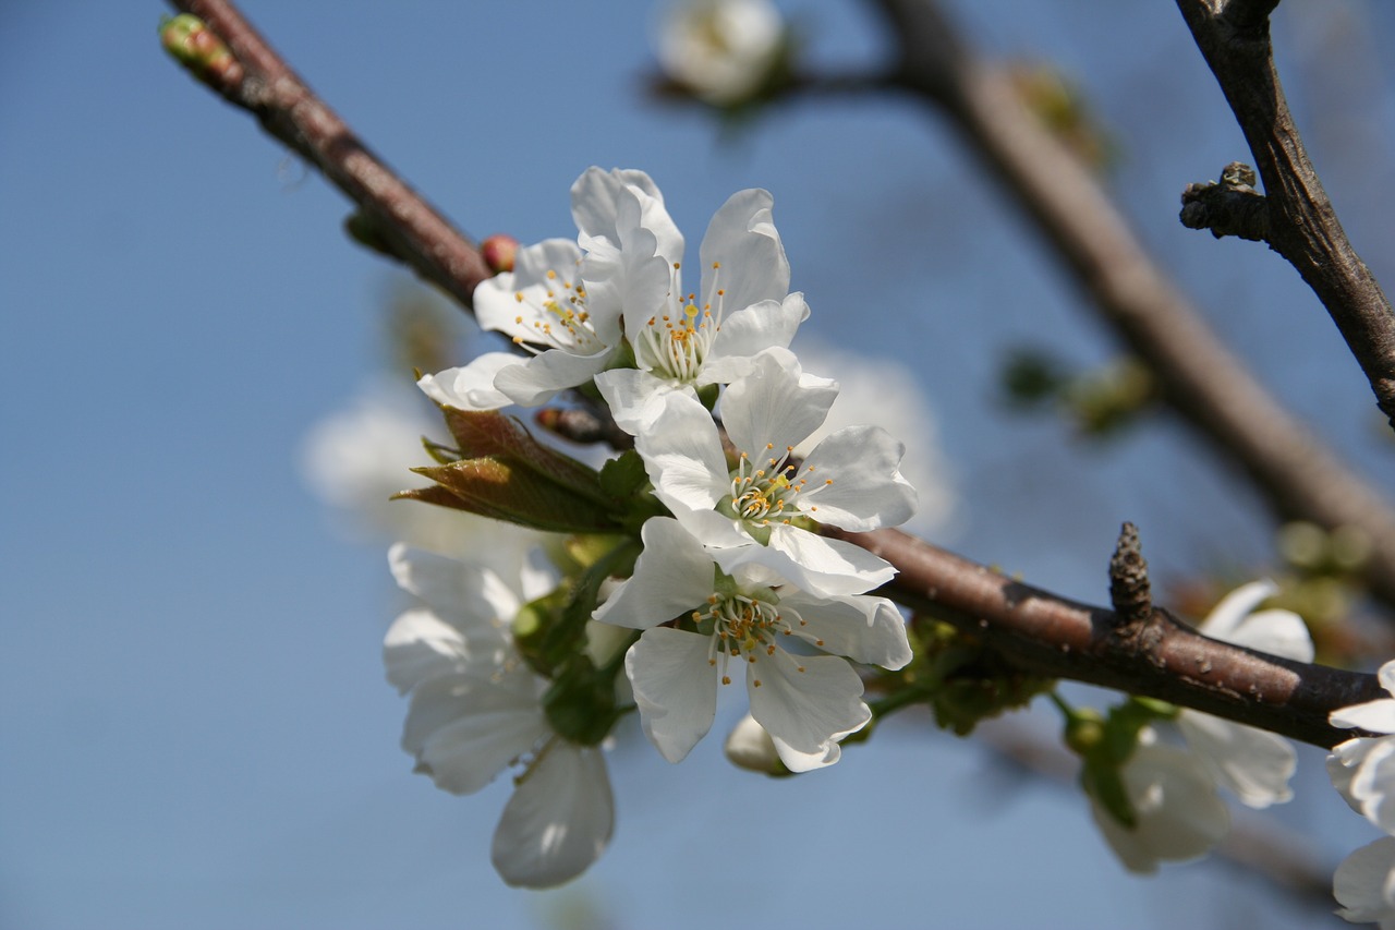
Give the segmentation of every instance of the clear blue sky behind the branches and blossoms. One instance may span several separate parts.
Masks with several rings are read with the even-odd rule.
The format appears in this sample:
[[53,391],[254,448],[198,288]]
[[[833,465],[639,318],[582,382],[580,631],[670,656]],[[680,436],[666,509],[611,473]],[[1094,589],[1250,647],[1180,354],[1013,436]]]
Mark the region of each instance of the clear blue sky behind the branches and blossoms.
[[[1244,149],[1172,6],[958,6],[996,54],[1055,60],[1087,88],[1144,239],[1389,490],[1364,381],[1296,275],[1175,219],[1182,186]],[[693,243],[728,194],[771,190],[813,307],[801,338],[918,373],[957,475],[960,552],[1091,602],[1123,519],[1163,577],[1262,568],[1256,501],[1179,426],[1099,450],[999,412],[1004,348],[1095,363],[1110,344],[907,102],[801,105],[718,145],[700,115],[639,92],[642,4],[244,8],[474,235],[569,235],[566,190],[593,163],[650,172]],[[861,6],[784,8],[817,60],[876,57]],[[714,740],[678,767],[622,740],[605,857],[558,892],[504,887],[488,836],[506,785],[458,799],[410,774],[379,659],[398,605],[384,550],[336,532],[297,466],[379,366],[403,275],[339,232],[338,193],[165,57],[162,13],[0,10],[0,924],[1168,926],[1186,896],[1215,926],[1311,926],[1225,867],[1127,877],[1078,795],[1014,782],[919,718],[778,783],[732,771]],[[1395,14],[1290,0],[1276,32],[1328,190],[1392,281],[1395,74],[1375,50]],[[1283,815],[1315,829],[1317,855],[1374,838],[1315,751],[1302,786]]]

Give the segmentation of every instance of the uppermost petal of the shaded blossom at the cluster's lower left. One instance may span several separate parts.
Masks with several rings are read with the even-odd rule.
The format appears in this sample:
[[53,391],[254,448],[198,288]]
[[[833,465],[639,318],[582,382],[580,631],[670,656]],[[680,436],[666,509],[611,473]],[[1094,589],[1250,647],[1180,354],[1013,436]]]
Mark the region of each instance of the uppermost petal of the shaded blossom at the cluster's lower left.
[[403,591],[466,637],[497,634],[522,606],[498,575],[480,566],[395,543],[388,567]]

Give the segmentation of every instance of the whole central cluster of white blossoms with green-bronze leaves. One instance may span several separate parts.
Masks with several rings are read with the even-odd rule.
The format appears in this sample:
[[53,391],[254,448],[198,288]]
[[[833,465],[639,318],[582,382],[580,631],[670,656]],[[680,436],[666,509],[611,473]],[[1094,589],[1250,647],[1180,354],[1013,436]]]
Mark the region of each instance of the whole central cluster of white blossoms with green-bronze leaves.
[[[751,726],[783,772],[804,772],[838,761],[872,718],[857,665],[911,662],[900,610],[868,593],[891,566],[819,533],[912,515],[904,447],[873,426],[801,447],[838,385],[790,350],[809,309],[771,204],[763,190],[727,200],[685,275],[653,180],[589,169],[572,186],[576,240],[519,249],[476,290],[480,323],[519,352],[418,381],[456,448],[432,445],[439,464],[413,471],[435,485],[400,496],[568,533],[551,574],[512,586],[480,560],[391,554],[424,603],[385,647],[412,694],[403,747],[456,793],[522,768],[494,841],[511,884],[558,884],[604,848],[598,747],[628,711],[678,762],[721,687],[744,681]],[[594,472],[497,413],[568,390],[604,401],[635,450]]]

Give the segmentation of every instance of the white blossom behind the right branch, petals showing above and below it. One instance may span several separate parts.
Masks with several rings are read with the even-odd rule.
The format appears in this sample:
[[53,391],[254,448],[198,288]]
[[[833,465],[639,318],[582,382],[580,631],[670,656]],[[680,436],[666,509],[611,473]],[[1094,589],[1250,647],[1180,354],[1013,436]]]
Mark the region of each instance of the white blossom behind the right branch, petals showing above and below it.
[[[1254,610],[1276,591],[1272,581],[1236,588],[1197,628],[1222,642],[1311,662],[1313,638],[1302,617],[1290,610]],[[1282,736],[1189,709],[1179,712],[1177,729],[1216,783],[1235,792],[1240,803],[1268,807],[1293,796],[1289,778],[1297,755]]]

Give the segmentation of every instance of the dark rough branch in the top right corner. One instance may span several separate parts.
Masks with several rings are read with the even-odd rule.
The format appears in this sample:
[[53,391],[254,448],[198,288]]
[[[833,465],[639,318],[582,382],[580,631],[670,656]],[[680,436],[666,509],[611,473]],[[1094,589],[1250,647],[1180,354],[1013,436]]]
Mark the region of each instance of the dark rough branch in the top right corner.
[[1274,68],[1268,0],[1177,0],[1264,180],[1265,242],[1327,307],[1395,429],[1395,313],[1338,222]]

